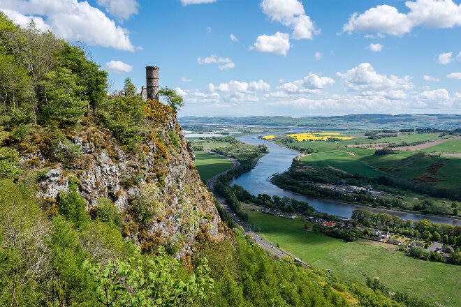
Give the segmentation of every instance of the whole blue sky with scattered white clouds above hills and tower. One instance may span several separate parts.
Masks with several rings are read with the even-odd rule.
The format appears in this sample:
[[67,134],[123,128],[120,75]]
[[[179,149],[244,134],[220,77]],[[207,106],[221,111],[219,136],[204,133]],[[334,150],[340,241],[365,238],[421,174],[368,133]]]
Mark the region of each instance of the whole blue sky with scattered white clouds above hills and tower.
[[461,114],[461,0],[0,0],[179,117]]

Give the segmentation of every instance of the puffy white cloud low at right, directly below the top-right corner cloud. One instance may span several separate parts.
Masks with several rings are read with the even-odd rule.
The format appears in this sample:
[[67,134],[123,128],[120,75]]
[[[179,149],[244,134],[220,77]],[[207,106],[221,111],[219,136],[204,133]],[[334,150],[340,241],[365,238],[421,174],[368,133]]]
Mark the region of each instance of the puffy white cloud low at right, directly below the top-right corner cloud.
[[376,73],[370,63],[361,63],[359,66],[352,68],[347,73],[337,73],[342,77],[346,91],[395,91],[409,90],[414,88],[410,77],[399,78],[395,75],[387,77]]

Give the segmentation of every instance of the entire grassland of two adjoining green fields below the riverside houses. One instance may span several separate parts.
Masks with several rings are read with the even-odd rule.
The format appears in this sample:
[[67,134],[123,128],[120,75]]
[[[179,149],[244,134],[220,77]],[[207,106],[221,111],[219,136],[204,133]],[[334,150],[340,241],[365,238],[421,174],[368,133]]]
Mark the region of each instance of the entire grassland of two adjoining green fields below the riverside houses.
[[[286,253],[319,269],[330,269],[344,280],[365,283],[366,277],[379,277],[391,291],[407,292],[440,306],[461,306],[461,267],[427,262],[404,255],[396,246],[360,239],[353,243],[306,231],[306,222],[246,211],[249,226],[261,228],[258,234],[279,243]],[[307,223],[312,225],[312,223]]]

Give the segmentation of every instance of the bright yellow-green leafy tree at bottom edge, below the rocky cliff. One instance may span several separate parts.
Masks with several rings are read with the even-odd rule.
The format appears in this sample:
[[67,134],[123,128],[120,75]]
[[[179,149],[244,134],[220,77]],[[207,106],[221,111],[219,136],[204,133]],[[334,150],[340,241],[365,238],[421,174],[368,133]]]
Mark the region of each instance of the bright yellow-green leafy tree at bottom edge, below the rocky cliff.
[[142,268],[140,255],[129,261],[108,262],[105,267],[86,261],[83,267],[96,282],[101,306],[191,306],[203,301],[214,285],[206,258],[187,280],[182,280],[178,276],[180,262],[166,256],[164,248],[149,260],[147,271]]

